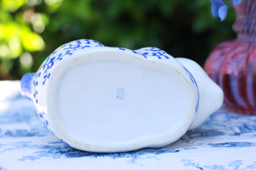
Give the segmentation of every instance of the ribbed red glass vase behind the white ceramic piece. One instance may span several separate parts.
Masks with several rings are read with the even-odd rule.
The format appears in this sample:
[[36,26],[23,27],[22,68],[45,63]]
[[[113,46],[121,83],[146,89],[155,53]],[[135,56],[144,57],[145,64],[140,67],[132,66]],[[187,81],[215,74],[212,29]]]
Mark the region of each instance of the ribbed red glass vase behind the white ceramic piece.
[[256,0],[242,0],[233,8],[238,37],[217,45],[204,70],[222,87],[226,109],[256,115]]

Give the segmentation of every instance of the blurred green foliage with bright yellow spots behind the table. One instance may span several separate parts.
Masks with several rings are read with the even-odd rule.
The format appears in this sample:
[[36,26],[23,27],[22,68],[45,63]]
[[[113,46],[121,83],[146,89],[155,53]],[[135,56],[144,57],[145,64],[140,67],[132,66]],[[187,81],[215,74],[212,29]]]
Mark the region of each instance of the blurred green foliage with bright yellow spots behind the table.
[[236,35],[232,8],[212,18],[209,0],[0,0],[0,80],[20,79],[66,42],[158,47],[203,66],[212,48]]

